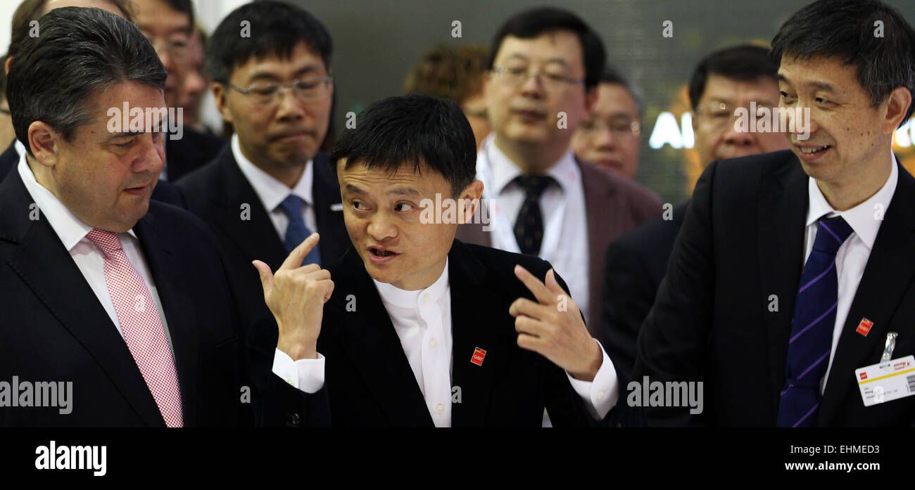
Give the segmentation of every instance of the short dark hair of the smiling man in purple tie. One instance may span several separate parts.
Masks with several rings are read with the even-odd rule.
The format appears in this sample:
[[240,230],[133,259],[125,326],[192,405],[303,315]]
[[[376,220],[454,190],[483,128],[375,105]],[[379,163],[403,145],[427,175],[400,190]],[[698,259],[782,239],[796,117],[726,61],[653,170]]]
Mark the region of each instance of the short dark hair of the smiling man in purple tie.
[[[882,37],[877,37],[877,21]],[[915,31],[899,10],[879,0],[820,0],[803,7],[772,38],[772,58],[838,58],[876,106],[897,87],[915,97]],[[901,124],[909,121],[915,104]]]

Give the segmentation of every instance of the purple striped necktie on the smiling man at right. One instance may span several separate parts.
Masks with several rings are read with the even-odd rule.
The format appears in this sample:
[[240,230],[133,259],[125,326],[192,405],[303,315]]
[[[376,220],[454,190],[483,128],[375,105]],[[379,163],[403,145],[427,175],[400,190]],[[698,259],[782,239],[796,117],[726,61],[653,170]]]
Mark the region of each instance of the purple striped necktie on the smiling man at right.
[[820,380],[826,374],[833,346],[839,289],[835,252],[852,234],[852,228],[842,217],[822,218],[818,223],[791,317],[779,427],[813,427],[820,408]]

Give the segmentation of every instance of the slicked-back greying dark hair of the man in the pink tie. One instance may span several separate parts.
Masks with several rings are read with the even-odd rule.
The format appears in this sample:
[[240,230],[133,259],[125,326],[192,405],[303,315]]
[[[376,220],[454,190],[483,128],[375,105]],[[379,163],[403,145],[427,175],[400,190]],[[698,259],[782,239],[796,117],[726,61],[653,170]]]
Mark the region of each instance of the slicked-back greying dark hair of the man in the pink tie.
[[6,98],[16,138],[26,144],[28,126],[47,122],[70,141],[92,122],[90,103],[117,83],[136,81],[165,91],[167,72],[143,33],[130,21],[99,8],[63,7],[38,20],[10,65]]

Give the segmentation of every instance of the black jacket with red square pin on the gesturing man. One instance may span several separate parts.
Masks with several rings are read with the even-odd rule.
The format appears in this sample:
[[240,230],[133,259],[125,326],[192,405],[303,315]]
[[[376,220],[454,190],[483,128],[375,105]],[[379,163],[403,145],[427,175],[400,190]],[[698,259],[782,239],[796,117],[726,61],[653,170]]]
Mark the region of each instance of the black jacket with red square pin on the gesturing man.
[[[448,258],[451,383],[461,395],[452,406],[453,427],[540,427],[544,407],[556,426],[623,423],[618,409],[604,421],[592,420],[565,371],[517,345],[509,305],[533,295],[515,277],[514,265],[544,278],[548,262],[459,240]],[[432,427],[400,339],[359,254],[348,250],[328,271],[335,287],[324,307],[318,351],[327,358],[332,423]],[[476,347],[486,350],[481,366],[470,362]]]

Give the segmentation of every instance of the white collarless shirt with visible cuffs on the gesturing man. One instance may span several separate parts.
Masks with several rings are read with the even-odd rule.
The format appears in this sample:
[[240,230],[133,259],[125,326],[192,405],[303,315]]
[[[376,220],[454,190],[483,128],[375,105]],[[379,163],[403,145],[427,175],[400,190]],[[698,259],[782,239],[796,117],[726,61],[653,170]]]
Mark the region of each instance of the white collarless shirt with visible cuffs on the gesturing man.
[[[445,271],[431,286],[419,291],[404,291],[391,284],[375,282],[382,304],[391,317],[394,331],[404,347],[416,384],[423,392],[426,408],[436,427],[451,427],[451,287]],[[595,419],[603,419],[617,403],[619,380],[610,357],[601,346],[604,360],[593,381],[572,378],[572,388],[585,401]],[[319,372],[318,372],[319,371]],[[323,383],[324,360],[300,359],[276,349],[274,373],[287,382],[314,393]]]

